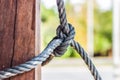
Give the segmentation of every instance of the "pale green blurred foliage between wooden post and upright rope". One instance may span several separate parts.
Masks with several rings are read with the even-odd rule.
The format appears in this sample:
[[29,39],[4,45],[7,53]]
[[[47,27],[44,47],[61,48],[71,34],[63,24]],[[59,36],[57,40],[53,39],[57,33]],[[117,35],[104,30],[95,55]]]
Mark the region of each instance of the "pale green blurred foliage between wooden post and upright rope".
[[41,5],[41,35],[43,41],[43,47],[45,47],[50,40],[55,36],[56,28],[58,26],[58,18],[54,9],[47,9],[44,5]]

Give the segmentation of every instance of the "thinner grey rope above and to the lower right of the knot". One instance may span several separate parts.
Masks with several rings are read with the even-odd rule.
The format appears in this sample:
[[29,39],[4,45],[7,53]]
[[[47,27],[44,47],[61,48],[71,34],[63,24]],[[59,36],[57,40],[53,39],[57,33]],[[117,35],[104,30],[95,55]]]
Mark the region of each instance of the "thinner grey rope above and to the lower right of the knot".
[[[66,18],[66,12],[65,12],[65,7],[64,7],[64,2],[63,0],[57,0],[57,6],[58,6],[58,11],[59,11],[59,18],[60,18],[60,24],[62,25],[62,29],[68,29],[68,23],[67,23],[67,18]],[[84,62],[87,64],[89,70],[91,71],[92,75],[94,76],[95,80],[102,80],[101,76],[99,75],[96,67],[94,66],[93,62],[85,52],[85,50],[80,46],[80,44],[74,40],[71,42],[71,46],[74,47],[79,55],[82,57]]]

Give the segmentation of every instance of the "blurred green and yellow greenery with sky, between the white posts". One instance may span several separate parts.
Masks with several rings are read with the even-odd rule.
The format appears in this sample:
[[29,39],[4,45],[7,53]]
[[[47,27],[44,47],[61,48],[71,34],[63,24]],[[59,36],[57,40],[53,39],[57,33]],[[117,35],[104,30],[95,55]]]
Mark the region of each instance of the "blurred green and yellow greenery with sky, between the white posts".
[[[59,25],[59,18],[55,0],[42,0],[41,2],[42,21],[42,47],[56,35],[56,28]],[[85,0],[65,0],[68,22],[76,30],[75,40],[78,41],[87,51],[87,2]],[[112,1],[94,0],[94,56],[112,56]],[[64,56],[79,57],[69,47]]]

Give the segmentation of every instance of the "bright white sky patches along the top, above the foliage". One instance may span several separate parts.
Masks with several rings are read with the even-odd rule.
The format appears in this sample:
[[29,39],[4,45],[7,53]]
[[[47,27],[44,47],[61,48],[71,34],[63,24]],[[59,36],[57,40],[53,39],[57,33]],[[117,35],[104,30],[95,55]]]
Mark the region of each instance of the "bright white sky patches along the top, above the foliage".
[[[66,0],[64,0],[66,1]],[[86,0],[70,0],[73,5],[84,3]],[[47,8],[56,6],[56,0],[42,0]],[[96,0],[98,6],[102,10],[109,10],[112,7],[112,0]]]

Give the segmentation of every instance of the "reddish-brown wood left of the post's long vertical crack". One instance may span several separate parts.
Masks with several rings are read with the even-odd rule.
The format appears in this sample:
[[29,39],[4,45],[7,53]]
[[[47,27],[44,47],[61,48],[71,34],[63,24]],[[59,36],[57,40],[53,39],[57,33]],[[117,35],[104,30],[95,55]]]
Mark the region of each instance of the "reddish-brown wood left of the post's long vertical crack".
[[15,0],[0,0],[0,70],[12,66],[15,8]]

